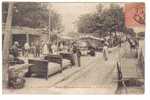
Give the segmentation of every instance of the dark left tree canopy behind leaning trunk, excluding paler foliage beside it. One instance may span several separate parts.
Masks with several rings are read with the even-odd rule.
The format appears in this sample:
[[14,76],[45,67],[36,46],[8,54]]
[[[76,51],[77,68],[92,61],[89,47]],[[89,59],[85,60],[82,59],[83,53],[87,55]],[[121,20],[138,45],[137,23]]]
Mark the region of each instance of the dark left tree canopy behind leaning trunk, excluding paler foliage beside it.
[[[3,3],[3,22],[6,22],[8,3]],[[15,3],[13,26],[26,26],[31,28],[41,28],[48,25],[48,11],[42,7],[41,3]]]

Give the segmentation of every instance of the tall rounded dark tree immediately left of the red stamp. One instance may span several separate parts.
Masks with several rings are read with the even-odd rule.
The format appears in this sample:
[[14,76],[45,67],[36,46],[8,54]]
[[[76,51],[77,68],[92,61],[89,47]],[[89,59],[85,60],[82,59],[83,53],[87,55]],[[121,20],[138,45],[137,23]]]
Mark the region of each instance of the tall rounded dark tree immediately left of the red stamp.
[[[104,27],[107,28],[107,32],[110,34],[112,32],[123,32],[125,27],[124,13],[123,9],[116,5],[111,4],[110,8],[105,12],[105,24]],[[116,34],[115,34],[116,36]]]

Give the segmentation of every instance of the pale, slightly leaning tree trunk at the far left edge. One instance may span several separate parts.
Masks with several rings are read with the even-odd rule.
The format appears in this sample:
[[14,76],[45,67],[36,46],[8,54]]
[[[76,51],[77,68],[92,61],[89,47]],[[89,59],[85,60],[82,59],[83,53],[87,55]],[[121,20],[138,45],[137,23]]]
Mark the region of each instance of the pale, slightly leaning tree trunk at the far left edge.
[[3,88],[8,87],[8,67],[9,67],[9,47],[11,38],[11,24],[13,16],[13,3],[9,3],[8,15],[5,25],[4,44],[3,44]]

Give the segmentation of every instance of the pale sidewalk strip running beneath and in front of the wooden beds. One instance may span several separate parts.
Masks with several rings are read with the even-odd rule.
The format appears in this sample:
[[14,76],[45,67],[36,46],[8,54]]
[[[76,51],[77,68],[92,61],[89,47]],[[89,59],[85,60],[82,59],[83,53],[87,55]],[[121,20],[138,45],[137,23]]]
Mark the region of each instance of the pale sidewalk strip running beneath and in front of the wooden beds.
[[[92,63],[96,59],[96,57],[83,57],[81,58],[81,61],[83,64],[81,64],[81,67],[78,66],[68,66],[65,70],[63,70],[62,73],[57,73],[53,76],[50,76],[48,80],[44,78],[35,78],[30,77],[26,78],[25,87],[22,89],[6,89],[3,91],[3,93],[7,94],[30,94],[30,93],[38,93],[40,92],[40,89],[44,89],[46,91],[48,88],[55,86],[56,84],[69,79],[72,75],[75,73],[85,69],[89,63]],[[89,60],[87,62],[87,60]],[[44,92],[46,93],[46,92]]]

